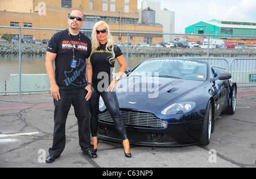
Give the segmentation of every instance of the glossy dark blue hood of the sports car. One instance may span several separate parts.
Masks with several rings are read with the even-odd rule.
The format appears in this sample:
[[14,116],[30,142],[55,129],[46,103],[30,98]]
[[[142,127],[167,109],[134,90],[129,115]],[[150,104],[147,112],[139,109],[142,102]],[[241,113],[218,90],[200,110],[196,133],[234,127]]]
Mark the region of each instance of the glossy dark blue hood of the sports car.
[[145,112],[155,112],[161,106],[180,100],[204,82],[175,78],[150,78],[128,76],[117,85],[117,96],[120,108]]

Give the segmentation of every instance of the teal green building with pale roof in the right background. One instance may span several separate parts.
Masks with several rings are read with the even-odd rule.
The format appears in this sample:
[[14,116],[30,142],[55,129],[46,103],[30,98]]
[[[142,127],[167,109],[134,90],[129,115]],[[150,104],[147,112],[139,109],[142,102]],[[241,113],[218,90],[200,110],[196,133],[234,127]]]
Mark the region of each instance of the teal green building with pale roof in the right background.
[[255,36],[256,22],[212,19],[185,28],[189,34]]

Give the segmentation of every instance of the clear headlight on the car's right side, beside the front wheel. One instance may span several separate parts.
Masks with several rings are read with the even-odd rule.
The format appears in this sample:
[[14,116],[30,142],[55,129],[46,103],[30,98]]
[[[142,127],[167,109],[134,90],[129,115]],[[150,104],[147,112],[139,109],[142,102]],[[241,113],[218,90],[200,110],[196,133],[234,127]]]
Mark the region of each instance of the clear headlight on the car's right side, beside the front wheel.
[[162,114],[168,115],[168,114],[183,114],[191,111],[193,108],[195,108],[196,103],[192,101],[188,102],[182,102],[182,103],[175,103],[164,110],[162,110]]

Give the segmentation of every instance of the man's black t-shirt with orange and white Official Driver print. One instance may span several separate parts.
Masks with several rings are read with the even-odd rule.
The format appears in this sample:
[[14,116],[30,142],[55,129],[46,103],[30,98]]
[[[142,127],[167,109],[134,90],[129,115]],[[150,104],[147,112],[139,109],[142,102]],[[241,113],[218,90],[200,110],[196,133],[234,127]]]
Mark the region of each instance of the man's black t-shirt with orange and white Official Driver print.
[[[75,50],[73,61],[72,42]],[[86,58],[92,49],[90,39],[80,32],[79,35],[68,35],[68,29],[58,32],[49,41],[47,52],[56,53],[55,79],[60,90],[75,90],[86,86]],[[73,63],[72,63],[73,62]]]

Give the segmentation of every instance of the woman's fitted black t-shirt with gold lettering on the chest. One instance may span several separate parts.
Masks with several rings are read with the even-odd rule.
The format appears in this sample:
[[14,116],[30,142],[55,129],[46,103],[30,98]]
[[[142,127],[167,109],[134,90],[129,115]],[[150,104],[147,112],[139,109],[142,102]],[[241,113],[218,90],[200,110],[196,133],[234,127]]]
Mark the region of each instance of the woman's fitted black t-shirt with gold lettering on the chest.
[[[90,62],[93,67],[93,87],[99,91],[100,87],[104,89],[109,87],[109,84],[113,80],[112,73],[115,61],[113,60],[112,63],[109,62],[109,59],[112,58],[112,51],[110,49],[106,50],[106,44],[101,44],[92,54],[92,57],[90,57]],[[123,54],[122,50],[117,45],[114,45],[114,54],[115,58]]]

